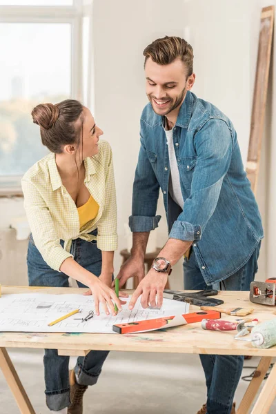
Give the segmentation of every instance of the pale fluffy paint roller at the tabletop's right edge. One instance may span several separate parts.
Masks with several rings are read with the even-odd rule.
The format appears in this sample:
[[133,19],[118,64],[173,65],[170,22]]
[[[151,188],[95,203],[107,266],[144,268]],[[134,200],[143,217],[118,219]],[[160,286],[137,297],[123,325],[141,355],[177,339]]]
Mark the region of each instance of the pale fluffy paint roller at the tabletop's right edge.
[[250,339],[256,348],[270,348],[276,345],[276,318],[254,326]]

